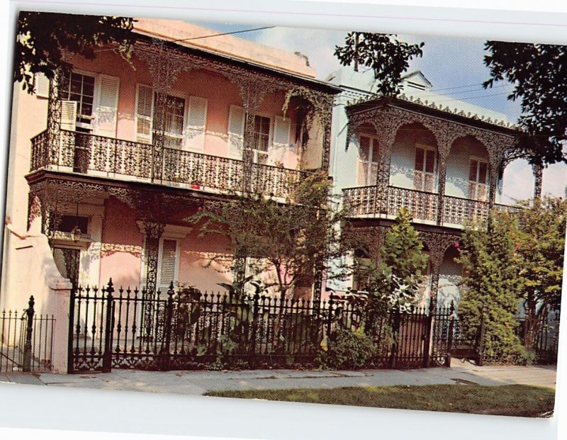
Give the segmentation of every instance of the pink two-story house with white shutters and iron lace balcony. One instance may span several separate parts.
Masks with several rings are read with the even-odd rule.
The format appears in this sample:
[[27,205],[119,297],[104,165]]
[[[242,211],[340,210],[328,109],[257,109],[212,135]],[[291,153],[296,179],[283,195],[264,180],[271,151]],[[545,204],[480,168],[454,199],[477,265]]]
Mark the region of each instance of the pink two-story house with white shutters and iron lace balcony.
[[339,89],[303,57],[189,23],[138,19],[133,32],[130,60],[101,47],[36,77],[33,95],[14,85],[6,215],[47,235],[73,283],[218,290],[232,243],[186,219],[243,191],[283,202],[327,170]]

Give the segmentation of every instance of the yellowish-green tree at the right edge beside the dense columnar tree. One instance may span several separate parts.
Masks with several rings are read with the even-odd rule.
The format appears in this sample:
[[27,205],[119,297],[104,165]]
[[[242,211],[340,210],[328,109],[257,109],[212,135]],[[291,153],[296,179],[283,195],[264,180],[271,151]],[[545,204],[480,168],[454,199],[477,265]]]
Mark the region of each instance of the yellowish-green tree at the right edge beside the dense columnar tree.
[[516,249],[526,312],[524,344],[532,346],[549,310],[561,305],[567,201],[535,199],[529,208],[520,210],[517,219]]

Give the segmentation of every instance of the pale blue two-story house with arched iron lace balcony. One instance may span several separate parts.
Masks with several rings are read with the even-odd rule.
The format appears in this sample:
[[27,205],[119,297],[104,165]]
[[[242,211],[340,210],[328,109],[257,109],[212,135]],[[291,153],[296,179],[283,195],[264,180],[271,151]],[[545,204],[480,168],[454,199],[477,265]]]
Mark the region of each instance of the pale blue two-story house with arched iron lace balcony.
[[[342,88],[331,169],[349,221],[379,247],[398,210],[407,208],[430,255],[420,305],[458,302],[455,257],[464,225],[485,222],[491,208],[513,209],[497,201],[503,169],[517,154],[517,128],[503,114],[433,94],[421,72],[403,77],[397,98],[375,97],[371,71],[340,69],[328,81]],[[534,174],[541,191],[541,169]],[[354,276],[332,287],[364,290],[364,283]]]

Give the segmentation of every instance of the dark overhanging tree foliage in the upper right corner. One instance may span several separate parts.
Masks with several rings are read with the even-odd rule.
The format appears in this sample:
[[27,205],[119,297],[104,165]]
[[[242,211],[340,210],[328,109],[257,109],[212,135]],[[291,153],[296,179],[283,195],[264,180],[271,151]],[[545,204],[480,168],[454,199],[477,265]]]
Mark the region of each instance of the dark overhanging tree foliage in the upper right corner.
[[506,79],[515,86],[508,99],[521,99],[519,123],[529,135],[521,149],[534,164],[566,161],[567,46],[487,41],[485,50],[492,78],[484,87]]

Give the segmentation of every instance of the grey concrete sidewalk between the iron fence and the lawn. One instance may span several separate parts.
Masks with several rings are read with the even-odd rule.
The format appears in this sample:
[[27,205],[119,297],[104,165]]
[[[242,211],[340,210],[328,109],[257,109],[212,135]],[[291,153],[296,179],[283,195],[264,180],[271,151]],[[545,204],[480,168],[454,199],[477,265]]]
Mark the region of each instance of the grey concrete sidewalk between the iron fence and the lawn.
[[218,390],[338,388],[369,385],[524,384],[555,388],[556,370],[546,366],[485,366],[453,359],[451,368],[361,371],[135,371],[30,375],[0,373],[0,381],[101,390],[202,395]]

